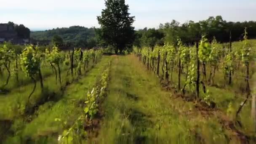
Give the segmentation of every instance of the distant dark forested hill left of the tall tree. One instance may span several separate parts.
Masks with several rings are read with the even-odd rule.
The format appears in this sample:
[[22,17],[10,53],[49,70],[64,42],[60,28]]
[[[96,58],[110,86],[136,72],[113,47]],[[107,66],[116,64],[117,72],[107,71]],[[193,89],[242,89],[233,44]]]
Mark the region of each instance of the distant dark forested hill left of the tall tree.
[[59,35],[64,43],[72,43],[84,47],[91,47],[96,43],[95,30],[80,26],[31,32],[30,37],[35,40],[52,40],[54,35]]

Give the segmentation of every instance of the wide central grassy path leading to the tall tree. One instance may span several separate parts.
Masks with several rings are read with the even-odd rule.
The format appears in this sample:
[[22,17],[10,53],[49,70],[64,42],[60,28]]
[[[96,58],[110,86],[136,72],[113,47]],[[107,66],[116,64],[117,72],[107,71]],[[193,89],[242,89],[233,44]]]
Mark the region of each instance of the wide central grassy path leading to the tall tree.
[[109,93],[97,143],[221,143],[232,134],[216,117],[205,117],[195,106],[174,99],[135,56],[116,56],[110,69]]

